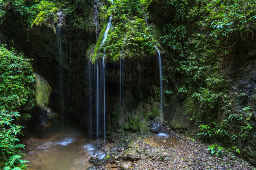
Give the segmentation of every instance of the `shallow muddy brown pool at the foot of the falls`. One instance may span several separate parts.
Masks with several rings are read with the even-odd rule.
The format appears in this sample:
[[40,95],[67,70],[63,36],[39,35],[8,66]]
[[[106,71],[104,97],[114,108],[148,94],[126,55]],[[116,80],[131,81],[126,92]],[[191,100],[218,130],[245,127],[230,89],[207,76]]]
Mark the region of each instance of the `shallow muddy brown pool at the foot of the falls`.
[[58,113],[48,113],[54,119],[52,126],[35,130],[24,141],[25,160],[30,161],[28,170],[80,170],[92,166],[85,147],[89,141],[82,128],[70,124]]

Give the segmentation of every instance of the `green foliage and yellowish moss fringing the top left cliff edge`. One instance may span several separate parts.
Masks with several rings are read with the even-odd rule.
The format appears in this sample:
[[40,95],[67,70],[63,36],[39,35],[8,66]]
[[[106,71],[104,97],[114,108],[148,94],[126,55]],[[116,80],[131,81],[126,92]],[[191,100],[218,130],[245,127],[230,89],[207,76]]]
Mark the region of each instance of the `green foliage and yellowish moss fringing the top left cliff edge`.
[[[87,11],[91,9],[86,5],[85,0],[63,0],[63,1],[50,1],[50,0],[0,0],[0,17],[6,13],[6,5],[14,9],[22,20],[23,27],[30,29],[33,25],[51,27],[55,30],[56,23],[63,24],[58,21],[58,12],[63,12],[65,22],[69,26],[78,27],[82,21],[81,15],[87,15]],[[85,13],[79,14],[80,8],[85,9]],[[63,22],[63,21],[62,21]]]

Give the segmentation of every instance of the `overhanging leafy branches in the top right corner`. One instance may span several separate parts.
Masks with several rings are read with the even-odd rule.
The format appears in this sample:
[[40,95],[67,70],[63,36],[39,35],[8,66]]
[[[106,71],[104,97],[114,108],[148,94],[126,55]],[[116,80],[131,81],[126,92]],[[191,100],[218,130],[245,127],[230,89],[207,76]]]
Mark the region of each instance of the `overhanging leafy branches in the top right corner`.
[[[210,27],[210,35],[230,37],[237,32],[254,33],[256,4],[254,0],[198,0],[190,18],[202,17],[198,26]],[[238,38],[238,37],[237,37]],[[224,42],[227,44],[228,38]]]

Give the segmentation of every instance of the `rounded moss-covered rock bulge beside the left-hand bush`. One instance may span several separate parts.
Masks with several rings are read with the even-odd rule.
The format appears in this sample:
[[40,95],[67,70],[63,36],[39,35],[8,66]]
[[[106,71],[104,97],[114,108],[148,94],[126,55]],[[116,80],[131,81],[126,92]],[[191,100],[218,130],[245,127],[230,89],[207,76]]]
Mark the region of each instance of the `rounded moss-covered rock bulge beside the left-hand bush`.
[[37,106],[43,108],[49,102],[52,88],[42,76],[37,74],[35,74],[35,76],[36,76],[35,102]]

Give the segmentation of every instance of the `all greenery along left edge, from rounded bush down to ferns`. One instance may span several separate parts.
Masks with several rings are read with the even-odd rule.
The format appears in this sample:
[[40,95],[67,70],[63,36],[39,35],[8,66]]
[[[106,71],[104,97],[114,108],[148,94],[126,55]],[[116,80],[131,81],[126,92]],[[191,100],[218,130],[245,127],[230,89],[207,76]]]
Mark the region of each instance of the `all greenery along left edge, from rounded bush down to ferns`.
[[[14,49],[0,47],[0,168],[4,170],[24,168],[27,161],[22,160],[22,154],[17,148],[24,145],[17,144],[17,135],[22,134],[19,124],[14,121],[26,114],[19,114],[22,107],[26,109],[34,106],[33,91],[35,75],[30,60]],[[16,119],[16,120],[15,120]],[[8,157],[10,157],[8,159]],[[8,159],[8,160],[6,160]]]

